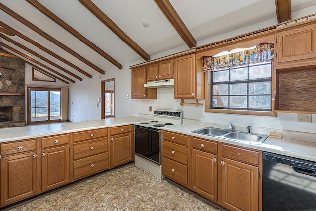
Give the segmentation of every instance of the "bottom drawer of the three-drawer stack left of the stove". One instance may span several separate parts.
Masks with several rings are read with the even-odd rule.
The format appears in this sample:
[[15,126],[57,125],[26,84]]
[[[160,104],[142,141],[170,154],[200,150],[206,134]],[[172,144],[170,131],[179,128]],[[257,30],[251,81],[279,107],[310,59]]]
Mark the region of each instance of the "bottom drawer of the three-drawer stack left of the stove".
[[99,171],[106,170],[108,167],[107,152],[74,161],[74,179],[92,175]]

